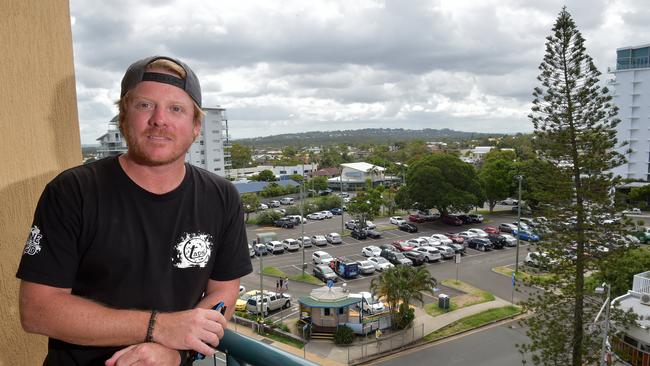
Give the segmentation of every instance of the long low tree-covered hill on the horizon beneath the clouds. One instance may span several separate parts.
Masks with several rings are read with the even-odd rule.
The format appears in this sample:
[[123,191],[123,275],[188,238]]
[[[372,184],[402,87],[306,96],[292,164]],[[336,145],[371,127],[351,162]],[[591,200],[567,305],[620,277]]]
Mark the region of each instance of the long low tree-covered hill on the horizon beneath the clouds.
[[285,133],[265,137],[234,140],[237,143],[255,147],[281,147],[281,146],[321,146],[332,144],[354,143],[394,143],[398,141],[425,140],[425,141],[459,141],[472,140],[485,137],[499,137],[503,134],[488,134],[477,132],[461,132],[450,129],[435,130],[406,130],[403,128],[365,128],[361,130],[344,131],[313,131],[301,133]]

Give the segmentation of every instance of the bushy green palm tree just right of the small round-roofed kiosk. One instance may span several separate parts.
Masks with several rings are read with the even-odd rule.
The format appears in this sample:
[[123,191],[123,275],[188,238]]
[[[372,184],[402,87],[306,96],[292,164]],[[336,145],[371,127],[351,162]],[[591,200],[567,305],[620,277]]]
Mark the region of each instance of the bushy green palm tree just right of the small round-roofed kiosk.
[[370,290],[375,296],[386,299],[393,324],[396,324],[394,320],[398,305],[403,303],[408,308],[414,299],[423,303],[422,292],[433,294],[437,283],[425,267],[396,266],[373,278]]

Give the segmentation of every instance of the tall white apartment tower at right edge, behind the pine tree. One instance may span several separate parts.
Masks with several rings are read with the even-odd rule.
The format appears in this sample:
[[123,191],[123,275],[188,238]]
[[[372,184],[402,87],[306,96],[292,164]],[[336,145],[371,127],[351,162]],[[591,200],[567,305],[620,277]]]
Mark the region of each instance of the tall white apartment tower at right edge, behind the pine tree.
[[650,44],[623,47],[616,50],[616,69],[610,70],[615,79],[614,103],[618,106],[621,123],[617,127],[619,143],[628,141],[621,152],[627,164],[614,169],[623,178],[650,178]]

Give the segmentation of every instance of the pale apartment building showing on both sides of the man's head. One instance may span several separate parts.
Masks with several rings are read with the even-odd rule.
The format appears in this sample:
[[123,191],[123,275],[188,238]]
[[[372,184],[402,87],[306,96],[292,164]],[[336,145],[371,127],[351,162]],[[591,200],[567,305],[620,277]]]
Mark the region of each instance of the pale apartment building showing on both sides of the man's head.
[[[226,110],[203,108],[203,111],[205,117],[201,123],[201,133],[187,151],[185,161],[225,177],[231,166]],[[117,116],[108,123],[108,132],[97,140],[100,143],[100,157],[118,155],[127,150],[126,141],[118,128]]]

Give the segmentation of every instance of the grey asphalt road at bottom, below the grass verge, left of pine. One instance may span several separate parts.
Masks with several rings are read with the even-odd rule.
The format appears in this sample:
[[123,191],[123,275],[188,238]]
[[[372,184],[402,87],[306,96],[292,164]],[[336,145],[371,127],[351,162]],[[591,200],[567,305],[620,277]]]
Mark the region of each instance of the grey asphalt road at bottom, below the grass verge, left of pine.
[[[516,321],[510,321],[400,352],[369,365],[515,366],[522,364],[522,356],[515,344],[526,342],[525,330]],[[526,359],[526,364],[531,364],[530,357]]]

